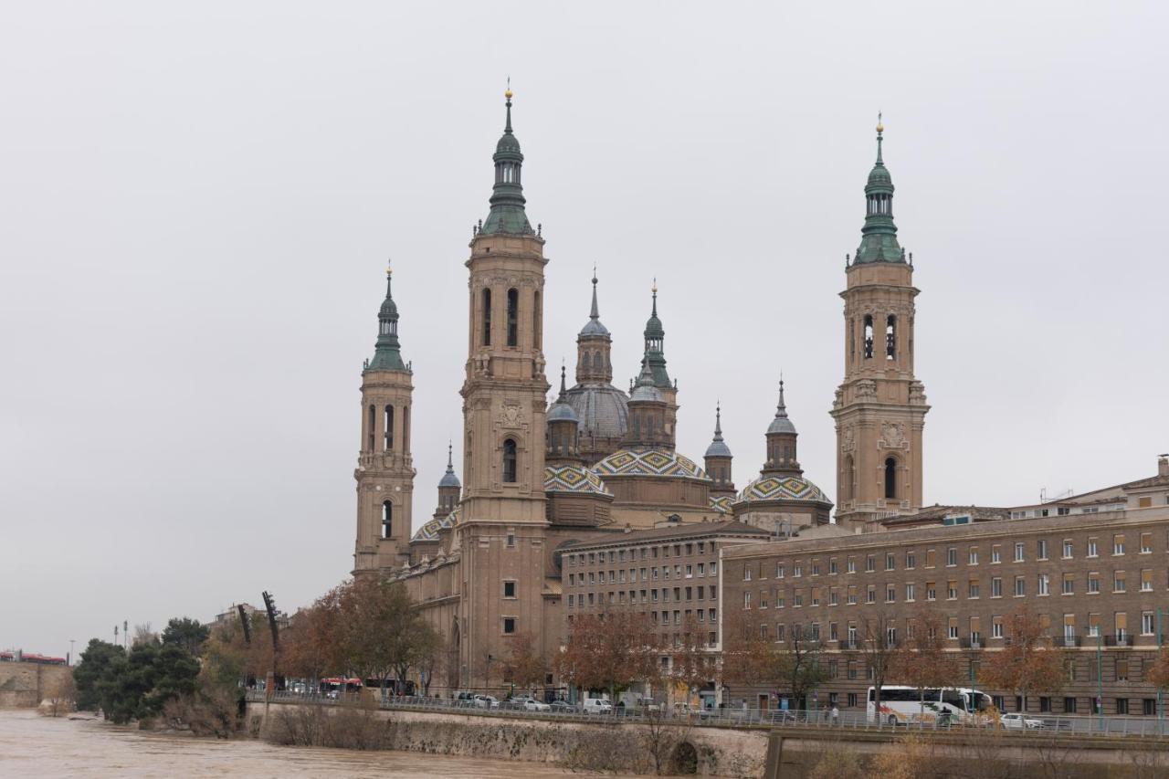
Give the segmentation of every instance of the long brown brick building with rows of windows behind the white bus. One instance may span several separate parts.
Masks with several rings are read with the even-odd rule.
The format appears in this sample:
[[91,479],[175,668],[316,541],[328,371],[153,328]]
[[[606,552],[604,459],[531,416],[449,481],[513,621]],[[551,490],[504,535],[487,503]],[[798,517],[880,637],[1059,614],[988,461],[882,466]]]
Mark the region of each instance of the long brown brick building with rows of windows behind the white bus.
[[[899,641],[928,609],[959,661],[955,685],[978,688],[980,669],[1010,640],[1011,612],[1026,605],[1067,670],[1063,689],[1029,696],[1029,711],[1097,712],[1098,697],[1105,713],[1154,711],[1157,691],[1146,671],[1169,627],[1164,457],[1154,477],[1049,506],[950,506],[922,516],[891,519],[877,532],[724,549],[725,616],[779,644],[794,632],[811,637],[828,663],[819,702],[863,708],[866,625],[884,625]],[[983,691],[1007,710],[1021,705],[1009,690]],[[774,705],[777,695],[783,690],[732,692],[749,705]]]

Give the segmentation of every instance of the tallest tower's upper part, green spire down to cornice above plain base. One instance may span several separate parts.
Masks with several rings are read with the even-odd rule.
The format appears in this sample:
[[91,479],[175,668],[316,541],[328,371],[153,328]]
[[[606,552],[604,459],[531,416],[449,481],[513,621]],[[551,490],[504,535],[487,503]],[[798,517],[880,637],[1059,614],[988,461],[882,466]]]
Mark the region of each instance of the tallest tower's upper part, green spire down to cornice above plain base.
[[463,521],[544,524],[544,239],[524,211],[524,154],[507,120],[491,211],[471,240],[463,382]]

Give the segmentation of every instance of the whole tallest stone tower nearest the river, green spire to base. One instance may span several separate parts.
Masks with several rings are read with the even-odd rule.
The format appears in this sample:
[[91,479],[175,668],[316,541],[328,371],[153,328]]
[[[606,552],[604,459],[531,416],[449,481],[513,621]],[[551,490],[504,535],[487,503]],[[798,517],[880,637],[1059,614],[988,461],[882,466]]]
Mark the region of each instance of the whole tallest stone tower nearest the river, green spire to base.
[[[544,239],[524,211],[524,154],[507,120],[496,145],[491,211],[471,240],[463,382],[463,502],[457,525],[464,684],[502,681],[520,633],[542,641],[545,566]],[[486,572],[491,573],[491,579]],[[535,585],[534,581],[540,581]]]

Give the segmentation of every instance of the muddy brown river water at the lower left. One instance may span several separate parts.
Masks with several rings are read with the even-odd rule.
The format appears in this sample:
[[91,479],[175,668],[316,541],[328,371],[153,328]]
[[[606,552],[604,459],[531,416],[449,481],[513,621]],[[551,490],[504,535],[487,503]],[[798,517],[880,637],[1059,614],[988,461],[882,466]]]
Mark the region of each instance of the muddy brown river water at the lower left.
[[[482,777],[573,775],[537,763],[417,752],[351,752],[150,733],[99,719],[0,710],[0,777]],[[580,775],[580,774],[576,774]],[[611,774],[609,774],[611,777]]]

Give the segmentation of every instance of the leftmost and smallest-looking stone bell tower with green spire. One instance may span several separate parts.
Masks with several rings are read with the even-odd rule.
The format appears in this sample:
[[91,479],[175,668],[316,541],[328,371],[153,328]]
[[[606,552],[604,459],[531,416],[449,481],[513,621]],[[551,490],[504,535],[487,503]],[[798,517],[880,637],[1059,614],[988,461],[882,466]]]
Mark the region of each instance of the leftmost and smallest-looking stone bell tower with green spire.
[[374,573],[409,558],[414,463],[410,457],[413,371],[402,363],[397,305],[386,270],[386,301],[378,312],[378,343],[361,371],[361,450],[358,535],[353,573]]

